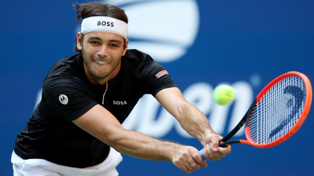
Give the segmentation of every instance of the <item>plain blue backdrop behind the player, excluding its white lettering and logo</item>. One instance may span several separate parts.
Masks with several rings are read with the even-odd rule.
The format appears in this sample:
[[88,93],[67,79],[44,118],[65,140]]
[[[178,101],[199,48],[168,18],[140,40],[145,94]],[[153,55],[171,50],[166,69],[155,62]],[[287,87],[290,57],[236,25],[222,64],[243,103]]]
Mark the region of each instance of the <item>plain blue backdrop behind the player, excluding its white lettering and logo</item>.
[[[84,1],[78,1],[84,2]],[[195,82],[262,77],[254,96],[272,79],[300,71],[314,82],[314,1],[198,0],[200,26],[194,44],[181,59],[162,64],[184,90]],[[10,157],[16,134],[31,115],[37,91],[51,66],[74,54],[76,21],[72,0],[4,1],[0,11],[1,114],[0,172],[13,175]],[[182,75],[182,71],[188,74]],[[259,149],[234,145],[220,161],[208,161],[192,175],[301,175],[312,173],[313,110],[300,130],[283,144]],[[225,135],[225,132],[222,135]],[[200,148],[174,130],[163,138]],[[241,138],[244,138],[242,136]],[[123,155],[121,175],[186,175],[171,163]]]

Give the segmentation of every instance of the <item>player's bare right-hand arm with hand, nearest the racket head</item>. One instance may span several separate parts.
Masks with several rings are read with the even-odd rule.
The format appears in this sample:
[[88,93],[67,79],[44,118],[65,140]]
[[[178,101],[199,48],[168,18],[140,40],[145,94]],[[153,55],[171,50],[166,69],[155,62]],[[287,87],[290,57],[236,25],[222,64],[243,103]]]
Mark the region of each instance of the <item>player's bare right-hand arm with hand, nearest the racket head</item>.
[[207,117],[182,96],[177,87],[159,91],[155,98],[174,116],[181,127],[191,136],[197,138],[204,146],[203,155],[209,160],[219,160],[230,153],[231,147],[219,147],[221,136],[211,129]]

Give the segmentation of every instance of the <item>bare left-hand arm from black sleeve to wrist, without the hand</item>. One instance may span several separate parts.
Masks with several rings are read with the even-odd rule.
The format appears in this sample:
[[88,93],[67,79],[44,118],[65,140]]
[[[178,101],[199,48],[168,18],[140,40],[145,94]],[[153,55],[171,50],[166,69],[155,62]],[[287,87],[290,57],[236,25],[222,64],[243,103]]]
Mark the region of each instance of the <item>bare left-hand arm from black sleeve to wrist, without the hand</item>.
[[116,151],[148,159],[171,161],[173,152],[182,145],[166,142],[126,130],[109,111],[96,105],[73,122]]

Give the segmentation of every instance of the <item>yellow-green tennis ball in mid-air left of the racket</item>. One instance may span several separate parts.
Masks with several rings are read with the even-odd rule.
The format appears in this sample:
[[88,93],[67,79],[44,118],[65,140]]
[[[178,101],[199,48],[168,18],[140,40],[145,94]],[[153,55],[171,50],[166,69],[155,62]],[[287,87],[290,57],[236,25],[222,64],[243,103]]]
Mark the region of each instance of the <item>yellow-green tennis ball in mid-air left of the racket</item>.
[[213,98],[219,105],[231,103],[236,97],[236,91],[230,85],[219,85],[213,91]]

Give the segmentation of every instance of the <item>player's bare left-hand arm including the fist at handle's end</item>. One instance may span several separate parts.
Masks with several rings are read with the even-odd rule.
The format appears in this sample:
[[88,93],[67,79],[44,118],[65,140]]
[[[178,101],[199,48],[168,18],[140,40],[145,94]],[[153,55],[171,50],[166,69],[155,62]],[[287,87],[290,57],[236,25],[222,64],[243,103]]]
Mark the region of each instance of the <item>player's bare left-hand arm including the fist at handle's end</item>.
[[196,148],[126,130],[100,105],[72,122],[120,153],[147,160],[169,161],[187,173],[207,166]]

